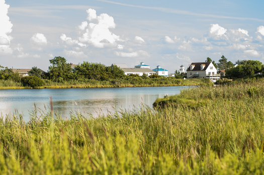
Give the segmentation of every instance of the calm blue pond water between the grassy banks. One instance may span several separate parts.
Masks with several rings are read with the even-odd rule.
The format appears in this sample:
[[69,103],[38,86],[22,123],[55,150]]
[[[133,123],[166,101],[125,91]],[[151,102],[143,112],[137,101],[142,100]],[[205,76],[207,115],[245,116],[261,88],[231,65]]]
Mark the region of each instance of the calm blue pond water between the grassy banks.
[[2,116],[5,116],[17,110],[27,121],[34,104],[39,109],[49,111],[50,97],[52,97],[53,109],[60,112],[62,118],[69,118],[70,112],[98,116],[99,113],[114,112],[115,108],[132,110],[135,107],[139,108],[142,103],[152,106],[157,98],[162,98],[166,94],[179,94],[181,89],[188,87],[0,90],[0,111]]

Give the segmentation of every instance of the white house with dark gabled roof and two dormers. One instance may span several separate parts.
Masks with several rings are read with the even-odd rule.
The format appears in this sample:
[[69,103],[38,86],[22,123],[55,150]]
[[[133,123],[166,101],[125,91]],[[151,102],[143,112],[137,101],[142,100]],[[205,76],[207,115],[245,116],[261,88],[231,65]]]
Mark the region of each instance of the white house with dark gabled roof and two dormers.
[[220,74],[212,62],[192,63],[187,69],[187,78],[209,78],[212,82],[220,79]]

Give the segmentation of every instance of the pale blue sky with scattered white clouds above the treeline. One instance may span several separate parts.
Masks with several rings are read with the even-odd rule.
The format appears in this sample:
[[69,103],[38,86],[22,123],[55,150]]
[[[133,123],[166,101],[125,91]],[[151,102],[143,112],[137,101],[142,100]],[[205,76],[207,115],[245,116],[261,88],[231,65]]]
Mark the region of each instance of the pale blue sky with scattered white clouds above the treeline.
[[264,63],[263,7],[262,0],[0,0],[0,65],[47,71],[61,56],[174,73],[222,55]]

